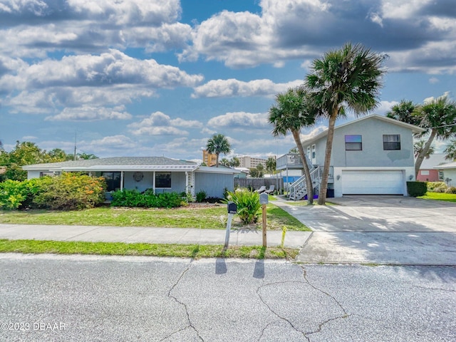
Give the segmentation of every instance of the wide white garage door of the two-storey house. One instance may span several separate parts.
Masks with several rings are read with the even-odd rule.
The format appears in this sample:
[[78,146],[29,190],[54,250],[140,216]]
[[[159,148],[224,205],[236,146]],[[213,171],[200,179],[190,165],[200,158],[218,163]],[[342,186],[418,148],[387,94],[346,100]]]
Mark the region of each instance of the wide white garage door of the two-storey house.
[[403,172],[342,171],[343,195],[404,195]]

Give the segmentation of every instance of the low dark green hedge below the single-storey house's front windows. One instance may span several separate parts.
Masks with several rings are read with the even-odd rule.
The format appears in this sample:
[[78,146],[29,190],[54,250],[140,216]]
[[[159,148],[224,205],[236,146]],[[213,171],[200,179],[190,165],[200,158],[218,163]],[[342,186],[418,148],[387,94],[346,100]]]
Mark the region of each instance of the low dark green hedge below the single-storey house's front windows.
[[154,194],[146,190],[142,194],[137,190],[118,190],[113,192],[112,207],[147,207],[175,208],[182,205],[182,196],[177,192]]

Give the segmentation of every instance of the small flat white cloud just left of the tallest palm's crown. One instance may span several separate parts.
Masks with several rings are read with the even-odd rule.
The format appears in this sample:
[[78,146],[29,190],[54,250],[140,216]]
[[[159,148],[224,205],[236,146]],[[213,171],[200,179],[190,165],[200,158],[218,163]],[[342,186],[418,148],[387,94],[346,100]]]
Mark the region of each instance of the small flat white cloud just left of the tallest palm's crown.
[[234,78],[230,78],[229,80],[213,80],[195,88],[192,98],[226,98],[232,96],[271,97],[288,88],[300,86],[303,82],[303,80],[296,80],[287,83],[274,83],[268,79],[244,82]]

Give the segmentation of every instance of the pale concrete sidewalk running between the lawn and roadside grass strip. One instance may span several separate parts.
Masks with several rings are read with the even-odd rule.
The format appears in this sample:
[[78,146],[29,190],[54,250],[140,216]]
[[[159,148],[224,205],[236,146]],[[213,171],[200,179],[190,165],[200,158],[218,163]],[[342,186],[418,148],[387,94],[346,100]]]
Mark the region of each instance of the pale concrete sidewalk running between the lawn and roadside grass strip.
[[[224,244],[225,229],[96,227],[38,224],[0,224],[0,239],[86,242],[144,242],[151,244]],[[267,245],[281,244],[281,231],[267,232]],[[311,232],[286,232],[284,247],[303,247]],[[261,230],[232,229],[230,245],[262,245]]]

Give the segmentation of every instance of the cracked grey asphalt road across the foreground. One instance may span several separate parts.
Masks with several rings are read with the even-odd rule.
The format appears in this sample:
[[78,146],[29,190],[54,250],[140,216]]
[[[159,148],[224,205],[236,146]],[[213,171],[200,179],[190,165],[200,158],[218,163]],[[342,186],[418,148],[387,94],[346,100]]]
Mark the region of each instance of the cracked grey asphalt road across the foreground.
[[0,341],[456,341],[456,267],[0,254]]

